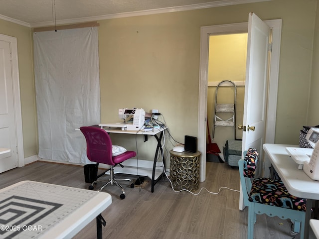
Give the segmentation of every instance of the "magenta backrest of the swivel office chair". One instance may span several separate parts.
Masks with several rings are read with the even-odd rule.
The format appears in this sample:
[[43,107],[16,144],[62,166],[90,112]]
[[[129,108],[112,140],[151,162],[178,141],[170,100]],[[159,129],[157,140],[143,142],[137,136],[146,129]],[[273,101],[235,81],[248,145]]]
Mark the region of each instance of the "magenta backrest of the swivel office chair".
[[86,139],[86,155],[92,162],[115,165],[112,159],[112,141],[102,128],[84,126],[80,130]]

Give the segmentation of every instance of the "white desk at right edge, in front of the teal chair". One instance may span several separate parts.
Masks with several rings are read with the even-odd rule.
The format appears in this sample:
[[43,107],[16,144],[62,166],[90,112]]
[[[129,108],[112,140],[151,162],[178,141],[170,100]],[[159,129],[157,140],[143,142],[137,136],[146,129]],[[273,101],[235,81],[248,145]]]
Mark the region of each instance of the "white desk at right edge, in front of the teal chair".
[[303,170],[298,169],[298,164],[289,156],[286,147],[296,147],[296,145],[269,143],[263,145],[288,192],[307,199],[305,238],[308,239],[313,200],[319,200],[319,181],[312,180]]

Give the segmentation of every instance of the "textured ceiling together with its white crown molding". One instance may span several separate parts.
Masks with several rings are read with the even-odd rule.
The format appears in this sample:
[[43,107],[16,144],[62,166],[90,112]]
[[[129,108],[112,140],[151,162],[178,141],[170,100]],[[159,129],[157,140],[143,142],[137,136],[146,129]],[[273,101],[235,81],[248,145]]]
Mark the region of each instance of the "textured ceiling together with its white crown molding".
[[39,27],[257,1],[267,0],[0,0],[0,18]]

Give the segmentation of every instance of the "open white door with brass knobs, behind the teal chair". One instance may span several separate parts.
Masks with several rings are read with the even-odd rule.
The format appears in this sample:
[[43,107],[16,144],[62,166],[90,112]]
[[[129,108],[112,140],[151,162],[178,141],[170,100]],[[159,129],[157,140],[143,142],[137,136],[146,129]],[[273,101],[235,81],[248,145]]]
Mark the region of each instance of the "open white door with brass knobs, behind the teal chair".
[[[254,147],[262,158],[267,118],[268,69],[270,28],[255,13],[249,13],[246,63],[245,104],[243,114],[242,153]],[[262,167],[259,167],[261,174]],[[240,190],[239,209],[242,210],[243,197]]]

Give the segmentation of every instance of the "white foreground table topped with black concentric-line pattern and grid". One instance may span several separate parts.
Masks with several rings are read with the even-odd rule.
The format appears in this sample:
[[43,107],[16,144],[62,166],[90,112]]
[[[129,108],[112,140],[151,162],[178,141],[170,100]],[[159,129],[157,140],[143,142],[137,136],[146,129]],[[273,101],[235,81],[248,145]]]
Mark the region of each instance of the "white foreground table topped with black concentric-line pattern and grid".
[[99,228],[111,203],[104,192],[22,181],[0,190],[0,238],[72,238],[95,218]]

